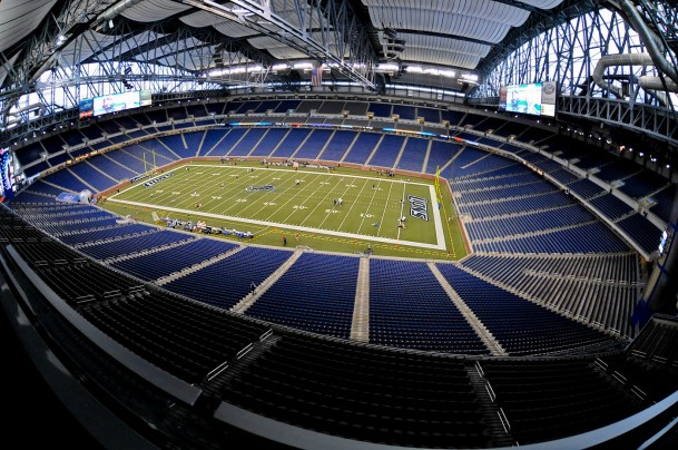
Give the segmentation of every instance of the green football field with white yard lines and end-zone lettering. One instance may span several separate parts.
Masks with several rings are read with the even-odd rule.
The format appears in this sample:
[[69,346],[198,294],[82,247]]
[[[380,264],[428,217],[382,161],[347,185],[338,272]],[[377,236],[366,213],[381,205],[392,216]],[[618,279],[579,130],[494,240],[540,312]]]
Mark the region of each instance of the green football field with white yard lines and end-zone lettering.
[[[168,174],[150,187],[144,186],[147,179],[137,182],[101,205],[144,222],[154,222],[155,213],[248,231],[255,237],[246,241],[263,245],[283,245],[285,236],[287,246],[332,252],[356,253],[371,245],[379,255],[439,260],[465,255],[449,195],[443,190],[439,209],[432,180],[242,162],[191,163],[151,179]],[[257,189],[263,186],[273,189]],[[411,215],[410,196],[426,199],[428,219]],[[335,205],[335,198],[343,204]],[[405,226],[399,227],[403,216]]]

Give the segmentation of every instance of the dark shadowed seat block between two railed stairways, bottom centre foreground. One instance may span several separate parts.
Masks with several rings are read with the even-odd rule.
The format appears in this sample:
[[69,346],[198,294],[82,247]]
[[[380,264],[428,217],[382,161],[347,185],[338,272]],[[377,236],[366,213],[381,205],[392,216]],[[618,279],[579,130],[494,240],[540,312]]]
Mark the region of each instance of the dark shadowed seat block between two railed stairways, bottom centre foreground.
[[345,351],[338,342],[285,335],[223,395],[275,420],[382,446],[484,448],[490,442],[464,366],[453,359]]

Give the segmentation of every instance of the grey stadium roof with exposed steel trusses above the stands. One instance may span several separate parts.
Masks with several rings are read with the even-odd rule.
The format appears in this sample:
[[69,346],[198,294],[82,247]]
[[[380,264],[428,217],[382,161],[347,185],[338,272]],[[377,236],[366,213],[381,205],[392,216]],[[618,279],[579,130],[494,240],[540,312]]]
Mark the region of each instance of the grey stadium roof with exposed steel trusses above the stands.
[[[592,8],[573,0],[9,0],[0,3],[0,82],[30,88],[46,70],[111,60],[196,76],[243,63],[288,75],[312,61],[365,86],[369,72],[382,71],[463,90],[462,75],[472,86],[527,36]],[[307,66],[301,75],[309,77]]]

